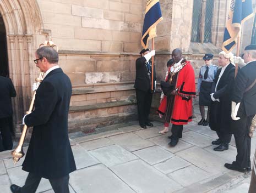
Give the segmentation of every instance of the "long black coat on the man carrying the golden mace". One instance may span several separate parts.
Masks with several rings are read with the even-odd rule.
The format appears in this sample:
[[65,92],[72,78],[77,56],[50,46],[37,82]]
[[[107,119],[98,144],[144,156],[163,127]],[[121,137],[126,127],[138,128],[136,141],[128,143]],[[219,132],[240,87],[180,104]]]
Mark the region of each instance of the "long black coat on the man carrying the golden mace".
[[25,117],[34,126],[23,170],[43,178],[59,178],[75,171],[68,138],[71,82],[58,68],[44,78],[36,90],[35,110]]

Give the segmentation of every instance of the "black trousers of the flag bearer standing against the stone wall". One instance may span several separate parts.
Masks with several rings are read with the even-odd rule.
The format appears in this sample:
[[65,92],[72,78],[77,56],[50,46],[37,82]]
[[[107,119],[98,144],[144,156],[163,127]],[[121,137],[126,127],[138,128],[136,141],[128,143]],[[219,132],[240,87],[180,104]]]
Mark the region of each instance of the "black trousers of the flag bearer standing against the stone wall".
[[146,123],[149,122],[149,113],[152,102],[152,96],[153,94],[151,93],[150,89],[147,92],[136,89],[138,118],[141,127],[146,126]]

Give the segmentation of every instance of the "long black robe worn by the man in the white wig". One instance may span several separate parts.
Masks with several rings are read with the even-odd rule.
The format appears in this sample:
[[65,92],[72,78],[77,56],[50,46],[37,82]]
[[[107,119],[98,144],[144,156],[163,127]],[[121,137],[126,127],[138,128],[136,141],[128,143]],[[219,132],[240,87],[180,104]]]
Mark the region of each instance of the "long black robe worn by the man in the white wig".
[[[220,102],[211,102],[210,128],[215,131],[231,133],[231,94],[235,76],[235,66],[231,63],[228,64],[217,84],[220,72],[221,69],[217,70],[212,87],[214,98],[220,99]],[[216,84],[217,88],[215,92]]]

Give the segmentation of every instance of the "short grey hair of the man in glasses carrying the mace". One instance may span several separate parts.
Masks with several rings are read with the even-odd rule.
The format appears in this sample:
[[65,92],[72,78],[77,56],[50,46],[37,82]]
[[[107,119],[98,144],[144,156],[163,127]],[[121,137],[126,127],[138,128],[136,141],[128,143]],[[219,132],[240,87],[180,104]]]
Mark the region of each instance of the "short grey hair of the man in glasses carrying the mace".
[[39,58],[46,58],[50,64],[56,64],[59,61],[59,55],[57,51],[48,46],[43,46],[37,49],[36,54]]

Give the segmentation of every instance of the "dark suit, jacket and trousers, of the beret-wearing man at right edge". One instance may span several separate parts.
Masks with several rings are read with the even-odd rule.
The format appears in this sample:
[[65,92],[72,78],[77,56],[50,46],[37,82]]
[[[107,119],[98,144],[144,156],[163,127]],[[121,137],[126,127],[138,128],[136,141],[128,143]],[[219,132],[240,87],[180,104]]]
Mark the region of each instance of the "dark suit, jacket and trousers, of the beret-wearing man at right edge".
[[246,92],[256,79],[256,61],[248,63],[238,71],[232,94],[232,101],[241,103],[237,112],[240,120],[232,120],[232,131],[236,140],[236,165],[240,168],[250,167],[250,124],[256,114],[256,84]]

